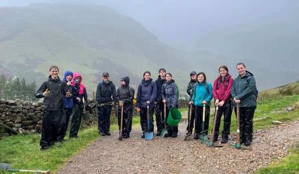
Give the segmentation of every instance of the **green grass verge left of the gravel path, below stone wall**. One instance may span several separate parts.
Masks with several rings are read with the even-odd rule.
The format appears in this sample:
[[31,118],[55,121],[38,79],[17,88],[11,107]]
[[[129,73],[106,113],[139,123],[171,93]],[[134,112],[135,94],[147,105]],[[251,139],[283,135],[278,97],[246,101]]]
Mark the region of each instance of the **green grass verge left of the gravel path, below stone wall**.
[[[140,117],[134,116],[133,125],[138,124],[140,124]],[[118,130],[116,123],[111,125],[111,131],[113,130]],[[5,137],[0,140],[0,163],[7,163],[12,169],[43,171],[51,169],[51,173],[55,174],[68,159],[100,138],[97,125],[81,129],[78,136],[78,139],[68,139],[67,135],[66,139],[68,141],[65,141],[61,148],[55,145],[47,151],[39,150],[39,135]],[[6,173],[9,174],[0,170],[0,174]]]

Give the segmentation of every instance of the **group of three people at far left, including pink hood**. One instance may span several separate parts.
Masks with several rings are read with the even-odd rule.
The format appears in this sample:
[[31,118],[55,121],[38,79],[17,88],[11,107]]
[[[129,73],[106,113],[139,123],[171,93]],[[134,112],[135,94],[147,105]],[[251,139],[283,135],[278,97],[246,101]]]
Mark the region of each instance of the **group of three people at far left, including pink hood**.
[[78,138],[83,116],[83,102],[87,104],[87,91],[79,73],[66,71],[63,80],[58,77],[59,68],[51,66],[47,81],[35,92],[36,98],[44,98],[40,150],[47,150],[56,142],[62,143],[70,117],[70,138]]

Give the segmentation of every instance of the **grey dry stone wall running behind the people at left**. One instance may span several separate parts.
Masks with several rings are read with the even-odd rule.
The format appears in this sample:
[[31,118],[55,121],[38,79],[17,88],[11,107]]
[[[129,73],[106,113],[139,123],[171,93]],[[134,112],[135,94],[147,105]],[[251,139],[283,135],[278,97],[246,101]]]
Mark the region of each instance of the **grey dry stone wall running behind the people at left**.
[[[93,100],[89,100],[89,105],[93,105]],[[179,108],[187,107],[188,101],[179,99]],[[97,107],[93,110],[92,117],[89,122],[82,121],[86,125],[97,124]],[[136,109],[134,115],[139,116]],[[43,116],[43,102],[42,101],[22,101],[20,99],[2,100],[0,99],[0,123],[12,128],[18,133],[30,134],[41,133]],[[111,117],[117,118],[116,106],[112,108]],[[113,123],[113,122],[112,122]],[[12,132],[7,128],[0,126],[0,137],[12,135]]]

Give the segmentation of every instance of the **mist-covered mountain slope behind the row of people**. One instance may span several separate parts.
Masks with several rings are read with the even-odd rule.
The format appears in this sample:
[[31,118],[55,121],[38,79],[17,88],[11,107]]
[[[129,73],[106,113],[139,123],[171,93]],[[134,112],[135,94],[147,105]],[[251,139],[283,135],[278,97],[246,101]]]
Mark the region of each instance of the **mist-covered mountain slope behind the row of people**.
[[255,75],[260,90],[298,80],[298,72],[267,67],[261,61],[171,48],[141,23],[104,6],[0,7],[0,25],[0,73],[35,80],[37,86],[49,76],[51,65],[60,68],[60,78],[66,70],[80,73],[88,93],[96,90],[103,72],[117,87],[122,77],[129,76],[131,86],[137,88],[145,71],[155,80],[163,67],[183,94],[191,71],[205,72],[213,83],[221,65],[236,77],[239,62]]

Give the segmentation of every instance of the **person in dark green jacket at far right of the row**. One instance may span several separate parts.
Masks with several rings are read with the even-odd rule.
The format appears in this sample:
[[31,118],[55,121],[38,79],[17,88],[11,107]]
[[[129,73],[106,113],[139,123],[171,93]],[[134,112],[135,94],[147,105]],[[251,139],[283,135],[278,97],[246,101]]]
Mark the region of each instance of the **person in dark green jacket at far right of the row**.
[[237,64],[239,76],[232,85],[232,98],[234,99],[235,114],[237,116],[237,103],[240,113],[240,143],[251,145],[253,133],[253,116],[257,107],[255,96],[256,81],[253,74],[246,71],[244,63]]

